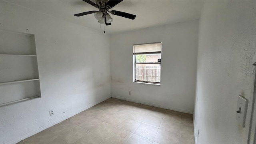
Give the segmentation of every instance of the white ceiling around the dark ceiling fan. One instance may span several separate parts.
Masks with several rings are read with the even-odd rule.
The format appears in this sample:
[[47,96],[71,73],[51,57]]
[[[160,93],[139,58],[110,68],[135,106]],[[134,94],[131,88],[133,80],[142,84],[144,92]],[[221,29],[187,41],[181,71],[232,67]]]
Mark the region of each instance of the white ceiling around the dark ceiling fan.
[[[96,3],[96,0],[92,0]],[[38,12],[58,17],[102,32],[94,14],[76,17],[74,14],[97,10],[82,0],[11,0],[8,1]],[[105,26],[107,33],[122,32],[152,26],[196,20],[200,17],[203,1],[194,0],[124,0],[110,10],[135,14],[130,20],[111,15],[112,25]]]

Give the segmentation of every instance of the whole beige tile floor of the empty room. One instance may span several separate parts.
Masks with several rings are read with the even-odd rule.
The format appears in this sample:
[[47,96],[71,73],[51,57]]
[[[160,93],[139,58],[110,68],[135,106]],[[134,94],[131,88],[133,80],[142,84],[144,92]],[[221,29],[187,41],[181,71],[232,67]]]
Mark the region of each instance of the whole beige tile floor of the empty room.
[[109,98],[18,144],[194,144],[191,114]]

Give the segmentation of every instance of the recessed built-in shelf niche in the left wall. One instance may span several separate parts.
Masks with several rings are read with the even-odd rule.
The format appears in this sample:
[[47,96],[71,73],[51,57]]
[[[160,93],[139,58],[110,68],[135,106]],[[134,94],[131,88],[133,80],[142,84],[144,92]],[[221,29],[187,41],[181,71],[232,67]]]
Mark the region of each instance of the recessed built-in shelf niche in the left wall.
[[1,29],[0,39],[0,106],[40,98],[34,34]]

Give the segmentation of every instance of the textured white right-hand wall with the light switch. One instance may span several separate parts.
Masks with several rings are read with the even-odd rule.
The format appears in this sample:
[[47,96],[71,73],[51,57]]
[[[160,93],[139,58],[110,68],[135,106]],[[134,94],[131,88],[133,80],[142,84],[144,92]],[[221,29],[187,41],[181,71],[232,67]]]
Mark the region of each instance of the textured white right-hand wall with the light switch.
[[[256,1],[206,1],[199,22],[194,112],[198,144],[247,143],[256,62]],[[245,128],[238,94],[249,100]]]

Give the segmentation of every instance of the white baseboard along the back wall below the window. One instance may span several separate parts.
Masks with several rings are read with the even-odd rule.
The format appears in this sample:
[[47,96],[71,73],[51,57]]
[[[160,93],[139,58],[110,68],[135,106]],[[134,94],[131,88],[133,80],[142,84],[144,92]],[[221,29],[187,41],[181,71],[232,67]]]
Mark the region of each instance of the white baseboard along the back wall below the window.
[[152,104],[152,103],[147,103],[147,102],[141,102],[139,100],[133,100],[133,99],[130,99],[130,98],[123,98],[123,97],[119,97],[119,96],[111,96],[112,98],[117,98],[117,99],[120,99],[120,100],[127,100],[127,101],[130,101],[130,102],[136,102],[136,103],[141,103],[141,104],[146,104],[146,105],[149,105],[149,106],[155,106],[155,107],[158,107],[158,108],[165,108],[165,109],[168,109],[168,110],[175,110],[175,111],[178,111],[178,112],[184,112],[184,113],[187,113],[187,114],[193,114],[192,111],[190,110],[181,110],[181,109],[178,109],[178,108],[172,108],[172,107],[167,107],[167,106],[161,106],[161,105],[158,105],[158,104]]

